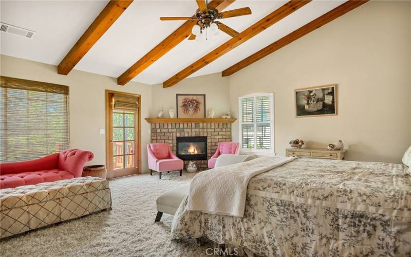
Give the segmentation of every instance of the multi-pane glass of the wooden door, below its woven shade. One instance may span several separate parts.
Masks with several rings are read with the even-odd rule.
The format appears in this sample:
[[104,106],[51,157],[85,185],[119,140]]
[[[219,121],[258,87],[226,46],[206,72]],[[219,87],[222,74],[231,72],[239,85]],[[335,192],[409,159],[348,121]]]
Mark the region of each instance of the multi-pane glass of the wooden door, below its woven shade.
[[135,112],[113,112],[113,170],[136,167]]

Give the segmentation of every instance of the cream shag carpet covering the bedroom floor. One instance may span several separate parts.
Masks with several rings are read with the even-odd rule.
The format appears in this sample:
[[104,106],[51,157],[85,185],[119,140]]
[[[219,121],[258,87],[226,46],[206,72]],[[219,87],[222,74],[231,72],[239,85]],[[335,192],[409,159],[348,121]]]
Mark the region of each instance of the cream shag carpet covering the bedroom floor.
[[156,198],[188,183],[193,174],[136,175],[110,181],[113,210],[91,214],[3,240],[6,256],[205,256],[208,245],[172,242],[173,216],[159,223]]

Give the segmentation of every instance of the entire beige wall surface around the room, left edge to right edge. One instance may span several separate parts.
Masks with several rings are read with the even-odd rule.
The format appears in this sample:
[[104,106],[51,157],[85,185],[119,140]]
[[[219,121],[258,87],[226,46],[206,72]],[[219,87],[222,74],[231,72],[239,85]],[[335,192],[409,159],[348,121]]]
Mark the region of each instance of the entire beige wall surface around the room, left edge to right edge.
[[[270,56],[221,78],[211,74],[185,79],[170,88],[129,82],[0,56],[3,76],[70,87],[70,144],[95,153],[92,163],[105,163],[105,89],[142,96],[142,168],[150,127],[143,118],[164,107],[176,108],[176,94],[206,94],[215,117],[231,108],[238,116],[238,97],[274,92],[275,151],[285,154],[288,141],[304,139],[324,147],[342,139],[347,159],[400,162],[411,144],[411,2],[369,2]],[[338,83],[338,116],[295,118],[295,88]],[[232,125],[238,140],[238,123]]]

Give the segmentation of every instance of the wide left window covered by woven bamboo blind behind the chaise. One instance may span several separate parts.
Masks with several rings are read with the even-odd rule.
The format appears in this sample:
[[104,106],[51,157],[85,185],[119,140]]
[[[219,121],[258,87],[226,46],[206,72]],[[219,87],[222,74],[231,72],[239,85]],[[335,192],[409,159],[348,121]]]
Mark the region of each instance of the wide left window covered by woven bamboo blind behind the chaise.
[[0,77],[0,162],[69,148],[68,86]]

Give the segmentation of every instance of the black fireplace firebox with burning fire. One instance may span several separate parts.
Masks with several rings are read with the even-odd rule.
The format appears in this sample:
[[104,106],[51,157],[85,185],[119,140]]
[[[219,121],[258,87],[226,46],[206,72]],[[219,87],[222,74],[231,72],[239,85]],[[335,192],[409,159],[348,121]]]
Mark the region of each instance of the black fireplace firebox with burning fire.
[[182,160],[207,160],[207,137],[177,137],[177,157]]

